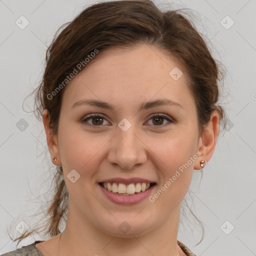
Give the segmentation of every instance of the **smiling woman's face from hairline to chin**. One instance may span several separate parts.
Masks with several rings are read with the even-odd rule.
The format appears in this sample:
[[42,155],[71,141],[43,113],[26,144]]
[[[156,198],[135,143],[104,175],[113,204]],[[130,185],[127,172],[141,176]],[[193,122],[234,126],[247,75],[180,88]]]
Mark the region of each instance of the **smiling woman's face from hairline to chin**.
[[[73,221],[124,236],[163,226],[178,212],[194,165],[204,159],[194,99],[180,75],[162,51],[141,45],[108,50],[70,81],[54,154]],[[154,184],[132,195],[148,188],[142,183]]]

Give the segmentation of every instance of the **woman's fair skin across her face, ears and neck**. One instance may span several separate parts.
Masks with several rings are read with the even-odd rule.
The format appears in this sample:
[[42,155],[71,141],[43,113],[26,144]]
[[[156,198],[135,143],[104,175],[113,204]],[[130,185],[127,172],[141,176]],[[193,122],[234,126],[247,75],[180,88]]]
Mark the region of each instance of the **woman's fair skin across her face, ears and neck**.
[[[200,161],[209,161],[213,154],[219,117],[212,112],[199,135],[196,107],[185,76],[174,80],[169,75],[175,66],[174,60],[152,46],[108,50],[65,88],[57,134],[49,129],[47,111],[43,112],[51,158],[62,165],[69,192],[61,255],[185,255],[177,245],[181,200],[193,170],[201,169]],[[88,98],[114,108],[72,107]],[[165,104],[139,110],[142,103],[162,98],[180,106]],[[92,117],[80,122],[93,113],[103,115],[103,121]],[[157,113],[173,122],[162,117],[157,124],[151,116]],[[118,126],[123,118],[131,124],[126,131]],[[200,156],[153,202],[145,198],[130,205],[117,204],[98,184],[113,177],[146,178],[156,183],[153,195],[197,151]],[[74,183],[67,178],[72,169],[80,174]],[[131,227],[127,233],[118,228],[123,221]],[[36,247],[45,256],[57,256],[58,239],[59,235],[54,236]]]

